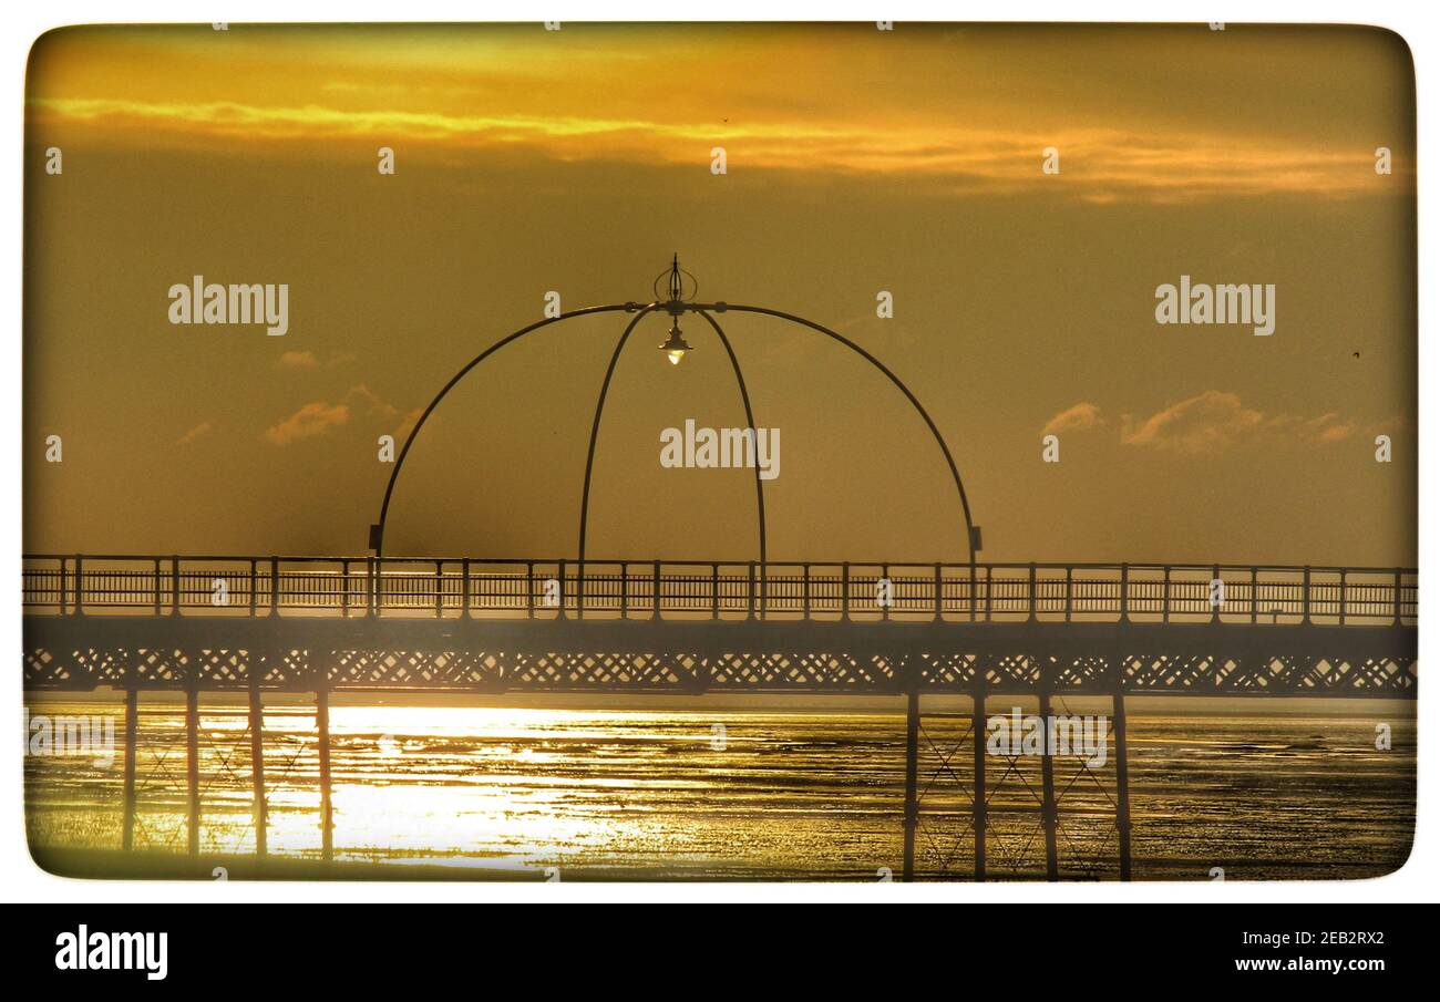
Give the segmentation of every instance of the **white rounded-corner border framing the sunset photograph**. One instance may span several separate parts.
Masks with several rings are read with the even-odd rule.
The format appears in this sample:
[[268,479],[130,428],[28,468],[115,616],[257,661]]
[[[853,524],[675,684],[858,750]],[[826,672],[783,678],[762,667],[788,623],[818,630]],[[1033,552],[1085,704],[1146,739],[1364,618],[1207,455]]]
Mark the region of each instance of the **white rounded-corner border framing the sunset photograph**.
[[[29,4],[7,4],[3,17],[4,99],[0,101],[4,144],[9,154],[0,157],[0,193],[4,193],[4,288],[3,302],[10,321],[3,335],[4,354],[10,364],[0,366],[4,412],[10,425],[12,469],[14,487],[3,498],[3,538],[9,553],[19,557],[20,540],[20,330],[22,330],[22,210],[23,181],[19,145],[23,137],[24,68],[30,45],[50,27],[91,22],[197,22],[203,17],[243,22],[498,22],[498,20],[873,20],[877,16],[896,22],[919,20],[1002,20],[1002,22],[1192,22],[1231,20],[1234,23],[1361,23],[1378,24],[1400,33],[1408,43],[1416,63],[1418,109],[1420,229],[1418,274],[1420,328],[1434,327],[1440,310],[1440,284],[1424,281],[1437,275],[1433,238],[1440,229],[1437,204],[1440,177],[1433,137],[1440,128],[1440,14],[1434,4],[1404,0],[1369,0],[1368,3],[1336,3],[1315,0],[1305,4],[1254,0],[1244,4],[1151,0],[1093,0],[1083,6],[1058,0],[995,0],[991,4],[946,4],[937,0],[690,0],[688,3],[658,3],[657,0],[514,0],[513,3],[475,4],[456,0],[410,0],[403,6],[353,0],[344,6],[314,0],[265,0],[246,3],[230,0],[216,10],[196,10],[193,3],[128,4],[128,10],[99,0],[50,0],[37,9]],[[534,12],[533,17],[523,16]],[[1420,337],[1421,387],[1440,389],[1436,354]],[[1420,393],[1420,441],[1434,441],[1436,412],[1426,406],[1433,393]],[[1420,511],[1436,491],[1436,469],[1421,462]],[[1436,566],[1437,536],[1424,520],[1420,524],[1421,573]],[[1440,587],[1421,589],[1421,664],[1427,656],[1424,638],[1440,625],[1437,619]],[[0,574],[0,651],[12,651],[7,664],[17,668],[14,654],[20,641],[19,576]],[[4,672],[10,681],[0,685],[0,694],[19,692],[19,672]],[[1437,675],[1440,678],[1440,675]],[[1421,720],[1434,716],[1440,685],[1421,685],[1418,713]],[[12,710],[17,710],[12,704]],[[20,747],[20,714],[0,713],[0,749]],[[438,903],[438,901],[965,901],[1005,903],[1015,900],[1009,884],[471,884],[471,883],[297,883],[297,881],[79,881],[52,877],[30,861],[23,823],[23,763],[19,754],[0,756],[0,865],[4,867],[3,898],[7,901],[52,903]],[[1145,901],[1145,903],[1309,903],[1339,901],[1354,904],[1391,901],[1436,901],[1440,898],[1440,834],[1437,834],[1437,802],[1440,802],[1440,753],[1426,734],[1418,752],[1418,811],[1416,842],[1410,861],[1388,877],[1365,881],[1223,881],[1223,883],[1156,883],[1133,884],[1027,884],[1025,900],[1040,903],[1080,901]]]

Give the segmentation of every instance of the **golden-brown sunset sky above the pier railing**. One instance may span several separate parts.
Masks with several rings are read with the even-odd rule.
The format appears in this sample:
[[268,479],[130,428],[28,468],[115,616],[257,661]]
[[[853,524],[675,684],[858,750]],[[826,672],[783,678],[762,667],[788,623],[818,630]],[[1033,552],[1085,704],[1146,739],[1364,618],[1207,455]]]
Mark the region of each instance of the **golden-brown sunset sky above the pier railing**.
[[[648,301],[678,252],[700,299],[805,315],[906,382],[982,560],[1416,561],[1414,73],[1378,29],[75,27],[36,43],[26,101],[29,553],[363,554],[379,436],[549,292]],[[288,331],[171,324],[194,275],[285,284]],[[1182,275],[1274,285],[1274,333],[1158,324]],[[626,320],[462,380],[386,551],[573,556]],[[721,322],[780,432],[772,559],[966,559],[881,374]],[[744,423],[683,327],[681,366],[664,317],[618,361],[592,557],[757,556],[749,471],[658,461],[665,428]]]

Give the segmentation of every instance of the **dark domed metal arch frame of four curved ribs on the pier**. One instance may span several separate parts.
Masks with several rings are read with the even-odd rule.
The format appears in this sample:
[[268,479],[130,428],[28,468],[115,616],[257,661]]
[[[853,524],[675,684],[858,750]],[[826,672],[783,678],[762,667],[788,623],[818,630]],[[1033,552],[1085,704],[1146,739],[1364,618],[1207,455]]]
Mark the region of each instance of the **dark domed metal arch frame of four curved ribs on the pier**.
[[[419,419],[415,422],[415,426],[410,428],[410,432],[409,432],[409,435],[405,439],[405,445],[400,448],[400,453],[396,456],[395,466],[390,469],[390,478],[389,478],[389,481],[387,481],[387,484],[384,487],[384,498],[380,502],[379,521],[372,527],[372,534],[370,534],[370,549],[374,550],[374,559],[376,559],[376,561],[380,561],[380,560],[384,559],[384,528],[386,528],[386,520],[389,517],[390,501],[392,501],[393,494],[395,494],[395,485],[396,485],[396,482],[399,482],[400,471],[405,466],[405,459],[410,453],[410,446],[415,443],[415,439],[419,436],[420,429],[425,426],[425,422],[429,419],[429,416],[435,412],[435,409],[441,405],[441,402],[449,394],[449,392],[452,389],[455,389],[455,386],[462,379],[465,379],[465,376],[468,376],[477,366],[480,366],[482,361],[485,361],[485,358],[488,358],[490,356],[492,356],[500,348],[505,347],[507,344],[511,344],[513,341],[520,340],[526,334],[531,334],[531,333],[534,333],[537,330],[541,330],[544,327],[550,327],[552,324],[559,324],[560,321],[564,321],[564,320],[575,320],[576,317],[588,317],[588,315],[592,315],[592,314],[632,312],[635,315],[625,325],[625,330],[621,334],[619,341],[615,344],[615,350],[611,353],[611,361],[609,361],[609,366],[605,370],[605,379],[600,383],[599,399],[596,400],[596,405],[595,405],[595,420],[592,422],[592,426],[590,426],[590,441],[589,441],[589,448],[586,451],[586,458],[585,458],[585,484],[583,484],[582,494],[580,494],[580,530],[579,530],[579,553],[577,553],[577,559],[583,564],[585,559],[586,559],[586,534],[588,534],[588,528],[589,528],[590,479],[592,479],[592,475],[593,475],[593,471],[595,471],[595,446],[596,446],[596,442],[599,441],[600,419],[602,419],[602,416],[605,413],[605,400],[609,396],[611,380],[615,376],[615,367],[619,363],[621,351],[625,348],[625,344],[629,340],[629,335],[635,331],[635,327],[648,314],[652,314],[652,312],[657,312],[657,311],[662,311],[662,310],[667,311],[667,312],[670,312],[677,320],[684,312],[698,314],[711,327],[711,330],[716,333],[717,338],[720,340],[721,346],[726,350],[726,354],[730,358],[732,369],[734,370],[736,384],[739,386],[739,390],[740,390],[740,400],[744,405],[746,423],[752,429],[756,428],[755,415],[753,415],[752,407],[750,407],[750,394],[749,394],[749,390],[747,390],[746,383],[744,383],[744,374],[740,370],[740,361],[739,361],[739,358],[734,354],[734,348],[730,344],[730,338],[726,337],[724,328],[720,327],[720,322],[714,318],[713,314],[720,314],[720,312],[750,312],[750,314],[776,317],[779,320],[785,320],[785,321],[789,321],[792,324],[798,324],[801,327],[806,327],[806,328],[814,330],[814,331],[816,331],[819,334],[825,334],[827,337],[832,338],[834,341],[838,341],[840,344],[845,346],[847,348],[850,348],[851,351],[854,351],[855,354],[858,354],[861,358],[864,358],[865,361],[868,361],[871,364],[871,367],[874,367],[881,374],[884,374],[896,386],[896,389],[899,389],[904,394],[906,400],[910,402],[910,406],[924,420],[926,428],[929,428],[930,435],[935,438],[936,445],[940,448],[940,452],[945,456],[945,462],[946,462],[946,465],[949,466],[949,471],[950,471],[950,478],[955,481],[956,495],[959,497],[959,501],[960,501],[960,513],[962,513],[962,517],[965,520],[965,549],[966,549],[966,553],[969,554],[969,564],[971,564],[972,573],[973,573],[973,567],[975,567],[975,561],[976,561],[976,551],[978,551],[978,547],[976,547],[978,540],[975,538],[975,536],[976,536],[976,533],[975,533],[975,524],[973,524],[973,521],[971,518],[971,504],[969,504],[969,498],[965,494],[965,484],[960,479],[960,471],[955,465],[955,456],[950,452],[950,448],[946,443],[945,436],[940,435],[940,429],[936,426],[935,420],[930,418],[929,412],[924,409],[924,406],[920,403],[920,400],[914,396],[914,393],[910,390],[910,387],[906,386],[904,382],[899,376],[896,376],[884,363],[881,363],[878,358],[876,358],[873,354],[870,354],[868,351],[865,351],[863,347],[860,347],[858,344],[855,344],[850,338],[844,337],[842,334],[838,334],[837,331],[832,331],[831,328],[828,328],[828,327],[825,327],[822,324],[816,324],[812,320],[806,320],[805,317],[799,317],[796,314],[785,312],[782,310],[772,310],[772,308],[768,308],[768,307],[749,307],[749,305],[727,304],[727,302],[684,302],[684,301],[680,301],[680,299],[671,299],[668,302],[655,301],[655,302],[649,302],[647,305],[639,305],[636,302],[626,302],[626,304],[611,304],[611,305],[602,305],[602,307],[585,307],[583,310],[572,310],[572,311],[567,311],[567,312],[562,312],[562,314],[559,314],[556,317],[547,317],[544,320],[536,321],[534,324],[528,324],[526,327],[521,327],[520,330],[514,331],[513,334],[508,334],[504,338],[501,338],[500,341],[495,341],[492,346],[490,346],[488,348],[485,348],[484,351],[481,351],[478,356],[475,356],[471,361],[468,361],[465,366],[462,366],[459,369],[459,371],[456,371],[449,379],[449,382],[446,382],[445,386],[441,387],[439,393],[435,394],[435,397],[425,407],[425,410],[420,412]],[[760,557],[759,563],[762,566],[765,566],[768,563],[768,560],[769,560],[769,553],[768,553],[766,520],[765,520],[765,481],[760,478],[759,466],[756,466],[756,471],[755,471],[755,491],[756,491],[756,511],[757,511],[757,521],[759,521],[759,530],[757,530],[759,531],[759,557]]]

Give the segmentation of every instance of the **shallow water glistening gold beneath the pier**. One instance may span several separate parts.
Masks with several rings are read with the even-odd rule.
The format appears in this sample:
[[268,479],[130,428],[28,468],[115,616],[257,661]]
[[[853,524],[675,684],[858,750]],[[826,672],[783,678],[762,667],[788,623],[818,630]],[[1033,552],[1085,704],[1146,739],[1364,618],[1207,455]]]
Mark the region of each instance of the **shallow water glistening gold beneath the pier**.
[[[32,713],[108,716],[124,734],[122,708],[112,703],[46,701]],[[1375,749],[1381,721],[1392,727],[1392,750]],[[183,723],[180,705],[141,711],[137,848],[186,851]],[[953,749],[966,727],[926,721],[922,875],[973,872],[973,756],[968,743]],[[903,714],[336,705],[330,728],[337,859],[615,877],[900,872]],[[315,737],[308,708],[266,708],[271,855],[320,854]],[[1210,880],[1214,867],[1227,878],[1364,877],[1394,870],[1408,854],[1408,714],[1132,710],[1129,746],[1136,878]],[[118,848],[122,769],[118,749],[108,763],[29,756],[32,844]],[[1074,757],[1057,757],[1054,773],[1063,875],[1113,878],[1113,746],[1093,775]],[[988,756],[986,780],[989,874],[1041,877],[1038,757]],[[202,852],[253,852],[243,707],[202,705],[200,786]]]

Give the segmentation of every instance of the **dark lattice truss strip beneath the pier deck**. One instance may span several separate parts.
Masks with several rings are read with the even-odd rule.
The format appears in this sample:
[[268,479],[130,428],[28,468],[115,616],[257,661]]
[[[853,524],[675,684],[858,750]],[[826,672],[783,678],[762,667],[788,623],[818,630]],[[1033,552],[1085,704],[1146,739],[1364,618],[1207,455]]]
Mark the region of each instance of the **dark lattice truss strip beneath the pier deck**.
[[24,688],[484,688],[484,690],[775,690],[899,692],[1038,690],[1073,694],[1274,692],[1413,695],[1414,658],[1205,654],[914,654],[782,651],[700,655],[662,652],[271,651],[27,648]]

